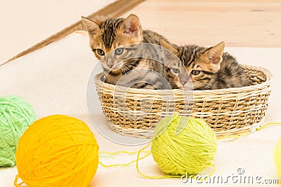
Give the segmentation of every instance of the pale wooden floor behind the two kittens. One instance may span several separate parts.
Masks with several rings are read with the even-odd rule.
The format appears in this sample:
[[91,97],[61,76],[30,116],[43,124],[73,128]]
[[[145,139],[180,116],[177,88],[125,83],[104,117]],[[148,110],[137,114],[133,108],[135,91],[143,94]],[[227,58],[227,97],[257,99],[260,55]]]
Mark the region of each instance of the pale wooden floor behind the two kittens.
[[138,15],[144,29],[178,44],[281,47],[277,0],[146,0],[130,13]]

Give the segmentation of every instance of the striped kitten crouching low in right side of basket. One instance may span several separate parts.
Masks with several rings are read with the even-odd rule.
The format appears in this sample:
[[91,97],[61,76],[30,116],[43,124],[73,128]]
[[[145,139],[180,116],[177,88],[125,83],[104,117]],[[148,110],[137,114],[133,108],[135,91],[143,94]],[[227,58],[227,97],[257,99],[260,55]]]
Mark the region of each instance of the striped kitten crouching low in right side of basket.
[[[224,42],[210,48],[196,45],[173,47],[165,41],[161,41],[161,44],[164,48],[171,50],[188,71],[189,76],[178,75],[183,89],[190,88],[190,86],[185,86],[190,83],[194,90],[215,90],[251,84],[235,57],[223,53]],[[178,74],[183,71],[181,66],[178,69],[173,67],[172,70]]]

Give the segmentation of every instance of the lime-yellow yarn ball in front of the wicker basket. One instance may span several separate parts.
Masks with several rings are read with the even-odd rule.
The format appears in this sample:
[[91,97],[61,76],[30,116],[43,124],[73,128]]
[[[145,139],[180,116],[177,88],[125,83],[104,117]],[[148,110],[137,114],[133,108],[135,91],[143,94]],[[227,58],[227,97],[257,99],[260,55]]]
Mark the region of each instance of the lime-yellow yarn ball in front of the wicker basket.
[[175,113],[159,121],[153,138],[152,156],[166,174],[195,175],[213,165],[216,135],[202,119]]

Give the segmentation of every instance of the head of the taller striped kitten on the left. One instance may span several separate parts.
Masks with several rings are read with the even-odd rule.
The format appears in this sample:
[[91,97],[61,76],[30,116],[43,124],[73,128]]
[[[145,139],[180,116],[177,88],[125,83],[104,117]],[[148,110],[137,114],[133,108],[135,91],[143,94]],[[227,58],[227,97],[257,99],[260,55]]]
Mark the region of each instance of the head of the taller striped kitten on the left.
[[129,48],[125,45],[141,43],[143,29],[136,15],[129,15],[126,19],[107,19],[104,22],[83,18],[82,21],[89,33],[90,46],[98,60],[101,60],[105,71],[121,71],[125,55]]

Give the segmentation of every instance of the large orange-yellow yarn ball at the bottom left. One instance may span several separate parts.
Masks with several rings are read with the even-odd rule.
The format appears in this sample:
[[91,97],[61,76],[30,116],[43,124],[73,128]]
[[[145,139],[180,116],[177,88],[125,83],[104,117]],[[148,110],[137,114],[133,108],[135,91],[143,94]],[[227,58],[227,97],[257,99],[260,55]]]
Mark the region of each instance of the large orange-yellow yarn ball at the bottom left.
[[83,121],[64,115],[41,118],[20,138],[15,183],[19,177],[28,187],[86,187],[96,174],[98,148]]

